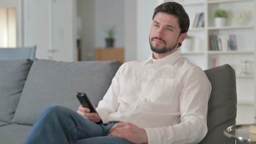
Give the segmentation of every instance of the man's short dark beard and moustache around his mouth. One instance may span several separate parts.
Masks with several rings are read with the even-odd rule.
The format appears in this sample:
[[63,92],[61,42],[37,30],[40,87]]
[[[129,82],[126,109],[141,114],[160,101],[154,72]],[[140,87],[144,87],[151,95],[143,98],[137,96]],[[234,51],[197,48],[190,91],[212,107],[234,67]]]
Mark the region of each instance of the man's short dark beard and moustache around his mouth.
[[[154,46],[152,45],[152,41],[153,41],[154,39],[163,41],[163,43],[164,43],[163,48],[156,48],[156,47],[154,47]],[[176,48],[176,46],[178,45],[178,42],[175,43],[174,45],[171,45],[170,47],[166,47],[166,42],[165,42],[165,40],[163,40],[161,37],[152,37],[151,40],[150,40],[150,37],[149,37],[149,44],[150,44],[150,48],[151,48],[151,50],[152,50],[153,52],[158,53],[158,54],[162,54],[162,53],[167,53],[167,52],[169,52],[169,51],[172,51],[174,48]]]

